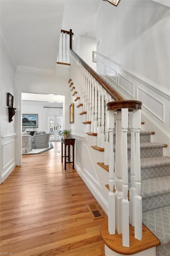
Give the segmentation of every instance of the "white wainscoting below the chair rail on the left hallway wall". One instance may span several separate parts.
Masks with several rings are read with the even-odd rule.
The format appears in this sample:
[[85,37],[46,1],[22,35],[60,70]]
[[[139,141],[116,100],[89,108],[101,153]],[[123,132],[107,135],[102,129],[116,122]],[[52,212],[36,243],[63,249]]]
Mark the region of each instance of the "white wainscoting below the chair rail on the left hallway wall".
[[1,181],[3,182],[14,170],[15,163],[15,137],[16,134],[2,136],[1,140]]

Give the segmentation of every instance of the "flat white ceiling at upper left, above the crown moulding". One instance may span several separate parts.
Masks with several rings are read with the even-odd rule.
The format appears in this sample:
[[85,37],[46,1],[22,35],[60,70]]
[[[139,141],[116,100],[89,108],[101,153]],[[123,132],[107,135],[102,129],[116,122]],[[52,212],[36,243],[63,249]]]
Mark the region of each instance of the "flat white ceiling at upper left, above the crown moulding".
[[1,28],[18,65],[56,69],[64,4],[1,0]]

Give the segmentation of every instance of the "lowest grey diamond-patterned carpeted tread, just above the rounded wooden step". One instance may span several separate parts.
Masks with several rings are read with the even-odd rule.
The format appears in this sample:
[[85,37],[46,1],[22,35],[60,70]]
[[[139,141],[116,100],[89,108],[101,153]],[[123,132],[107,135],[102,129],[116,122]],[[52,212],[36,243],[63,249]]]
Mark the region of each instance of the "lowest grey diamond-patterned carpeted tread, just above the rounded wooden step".
[[160,240],[161,244],[170,243],[170,205],[142,213],[144,225]]

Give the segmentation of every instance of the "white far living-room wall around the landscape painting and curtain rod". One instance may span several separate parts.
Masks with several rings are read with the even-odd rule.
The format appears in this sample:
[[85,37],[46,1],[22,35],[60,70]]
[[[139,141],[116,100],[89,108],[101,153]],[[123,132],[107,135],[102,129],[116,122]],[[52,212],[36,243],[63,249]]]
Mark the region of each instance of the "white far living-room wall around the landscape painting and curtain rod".
[[[49,103],[41,101],[22,101],[22,114],[38,114],[37,131],[44,131],[44,107],[49,107],[49,115],[62,115],[62,103]],[[56,107],[56,108],[55,108]],[[25,128],[33,131],[33,128]]]

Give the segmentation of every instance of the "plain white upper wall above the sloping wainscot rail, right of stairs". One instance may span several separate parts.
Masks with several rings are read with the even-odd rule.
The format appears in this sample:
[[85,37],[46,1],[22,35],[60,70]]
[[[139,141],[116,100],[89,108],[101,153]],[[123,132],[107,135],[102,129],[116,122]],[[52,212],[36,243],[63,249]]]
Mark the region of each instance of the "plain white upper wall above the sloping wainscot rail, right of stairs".
[[97,52],[170,89],[170,8],[154,1],[101,1]]

